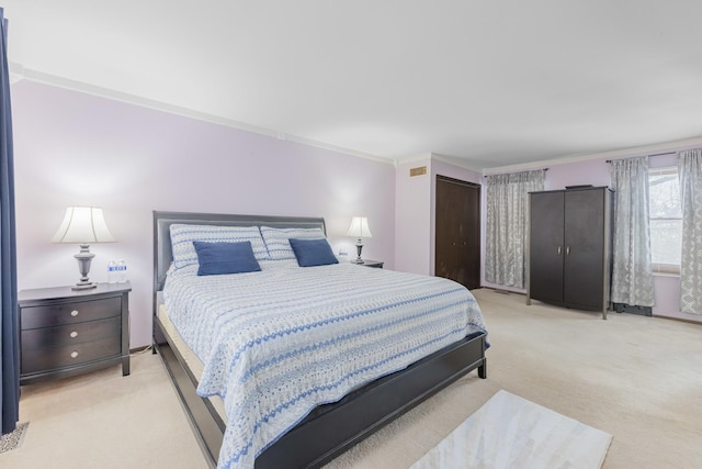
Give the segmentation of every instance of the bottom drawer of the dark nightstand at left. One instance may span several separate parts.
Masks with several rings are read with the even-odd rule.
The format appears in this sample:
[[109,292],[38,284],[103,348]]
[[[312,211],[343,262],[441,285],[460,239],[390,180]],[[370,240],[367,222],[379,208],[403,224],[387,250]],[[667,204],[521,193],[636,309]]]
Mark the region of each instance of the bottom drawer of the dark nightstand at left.
[[120,336],[53,348],[22,348],[22,375],[45,372],[120,356]]

